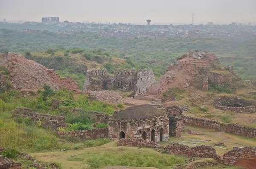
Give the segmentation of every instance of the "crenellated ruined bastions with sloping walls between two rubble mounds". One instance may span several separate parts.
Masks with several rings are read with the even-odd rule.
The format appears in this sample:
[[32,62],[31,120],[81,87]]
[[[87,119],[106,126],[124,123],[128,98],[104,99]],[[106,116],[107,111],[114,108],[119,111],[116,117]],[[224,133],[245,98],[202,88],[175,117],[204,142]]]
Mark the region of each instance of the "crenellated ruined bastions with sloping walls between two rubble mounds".
[[117,68],[114,76],[108,75],[107,69],[87,71],[83,91],[86,90],[111,90],[121,89],[126,92],[137,91],[145,93],[149,86],[155,83],[155,77],[151,69],[124,69]]

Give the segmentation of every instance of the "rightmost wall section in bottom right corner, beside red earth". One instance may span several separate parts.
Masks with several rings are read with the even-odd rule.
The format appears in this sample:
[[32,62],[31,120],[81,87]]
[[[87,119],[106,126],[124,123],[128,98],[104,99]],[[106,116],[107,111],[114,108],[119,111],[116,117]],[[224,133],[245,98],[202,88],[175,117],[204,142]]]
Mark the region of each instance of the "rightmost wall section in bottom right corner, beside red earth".
[[224,153],[222,163],[233,166],[238,160],[255,157],[256,147],[244,147]]

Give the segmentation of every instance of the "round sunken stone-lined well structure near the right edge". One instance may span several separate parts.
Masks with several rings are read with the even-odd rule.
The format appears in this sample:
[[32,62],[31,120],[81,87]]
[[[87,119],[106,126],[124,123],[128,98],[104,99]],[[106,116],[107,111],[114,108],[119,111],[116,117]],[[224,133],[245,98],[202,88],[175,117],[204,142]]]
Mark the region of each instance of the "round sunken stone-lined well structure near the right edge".
[[239,97],[218,97],[214,101],[215,108],[237,112],[237,113],[253,113],[255,112],[255,102],[246,101]]

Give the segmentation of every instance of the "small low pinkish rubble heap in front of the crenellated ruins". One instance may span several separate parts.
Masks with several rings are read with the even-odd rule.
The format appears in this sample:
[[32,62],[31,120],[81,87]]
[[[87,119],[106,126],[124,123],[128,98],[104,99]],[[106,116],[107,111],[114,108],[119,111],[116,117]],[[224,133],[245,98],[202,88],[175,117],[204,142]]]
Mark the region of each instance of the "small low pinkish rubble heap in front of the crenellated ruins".
[[109,90],[100,90],[100,91],[84,91],[84,94],[89,95],[89,98],[92,100],[102,101],[105,103],[123,103],[122,96],[117,92]]

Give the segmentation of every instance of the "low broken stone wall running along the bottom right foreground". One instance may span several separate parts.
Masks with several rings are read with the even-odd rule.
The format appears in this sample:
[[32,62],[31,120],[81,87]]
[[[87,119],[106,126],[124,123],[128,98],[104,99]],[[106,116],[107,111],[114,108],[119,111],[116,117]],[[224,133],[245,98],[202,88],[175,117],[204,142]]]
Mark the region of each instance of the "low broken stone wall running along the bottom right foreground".
[[117,146],[136,146],[146,148],[157,148],[166,150],[166,152],[175,155],[182,155],[187,157],[200,157],[200,158],[214,158],[220,163],[233,166],[236,161],[244,158],[256,157],[256,147],[244,147],[240,149],[231,150],[224,153],[223,157],[216,154],[216,150],[211,146],[195,146],[189,147],[187,145],[170,143],[168,146],[161,146],[152,141],[146,141],[142,138],[123,138],[118,140]]

